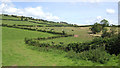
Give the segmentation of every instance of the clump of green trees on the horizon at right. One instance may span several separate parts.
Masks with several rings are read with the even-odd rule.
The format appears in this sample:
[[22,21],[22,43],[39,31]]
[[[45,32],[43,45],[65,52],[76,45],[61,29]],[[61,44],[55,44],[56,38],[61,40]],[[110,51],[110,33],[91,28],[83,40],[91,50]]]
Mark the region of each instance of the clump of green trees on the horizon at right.
[[[106,27],[110,27],[110,30],[108,30]],[[90,28],[93,34],[99,33],[102,31],[102,35],[101,37],[111,37],[114,36],[114,34],[116,34],[116,26],[115,25],[111,25],[109,24],[108,20],[103,19],[100,21],[100,23],[95,23],[94,25],[92,25],[92,27]]]

